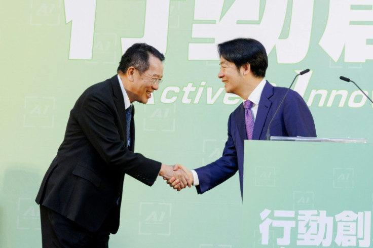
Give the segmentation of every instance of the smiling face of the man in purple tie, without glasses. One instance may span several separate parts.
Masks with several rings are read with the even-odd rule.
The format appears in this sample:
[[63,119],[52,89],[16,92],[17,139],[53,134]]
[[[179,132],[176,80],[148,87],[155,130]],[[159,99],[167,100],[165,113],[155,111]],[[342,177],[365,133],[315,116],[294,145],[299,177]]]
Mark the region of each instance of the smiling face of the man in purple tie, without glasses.
[[220,71],[217,77],[224,83],[227,93],[237,94],[240,91],[243,75],[237,69],[236,65],[220,57]]

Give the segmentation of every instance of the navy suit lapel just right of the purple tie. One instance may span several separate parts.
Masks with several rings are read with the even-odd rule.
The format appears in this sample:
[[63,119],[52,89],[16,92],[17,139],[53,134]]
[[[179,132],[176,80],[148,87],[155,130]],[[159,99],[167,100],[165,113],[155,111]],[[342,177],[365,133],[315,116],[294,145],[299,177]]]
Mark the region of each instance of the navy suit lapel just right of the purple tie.
[[273,95],[273,86],[267,81],[263,88],[262,95],[260,96],[258,111],[256,113],[254,130],[252,132],[252,139],[259,140],[260,134],[263,132],[263,128],[267,119],[268,111],[271,108],[272,101],[269,98]]

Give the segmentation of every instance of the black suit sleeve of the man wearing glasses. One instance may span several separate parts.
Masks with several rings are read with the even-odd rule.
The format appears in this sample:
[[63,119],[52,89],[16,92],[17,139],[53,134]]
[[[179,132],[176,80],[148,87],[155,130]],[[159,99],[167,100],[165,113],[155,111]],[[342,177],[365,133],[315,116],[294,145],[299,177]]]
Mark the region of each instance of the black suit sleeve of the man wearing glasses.
[[116,110],[103,96],[88,94],[85,96],[75,117],[100,157],[110,167],[120,169],[126,174],[152,185],[161,163],[130,151],[121,139],[116,124]]

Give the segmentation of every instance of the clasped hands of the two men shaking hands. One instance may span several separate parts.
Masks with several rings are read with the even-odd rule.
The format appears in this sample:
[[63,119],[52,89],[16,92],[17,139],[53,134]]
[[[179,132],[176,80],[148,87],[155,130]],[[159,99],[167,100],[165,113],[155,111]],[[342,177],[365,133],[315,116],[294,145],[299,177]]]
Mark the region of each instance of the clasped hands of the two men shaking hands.
[[167,166],[162,163],[161,171],[159,176],[166,180],[170,187],[180,191],[185,187],[192,187],[193,185],[193,174],[182,164],[175,164],[174,166]]

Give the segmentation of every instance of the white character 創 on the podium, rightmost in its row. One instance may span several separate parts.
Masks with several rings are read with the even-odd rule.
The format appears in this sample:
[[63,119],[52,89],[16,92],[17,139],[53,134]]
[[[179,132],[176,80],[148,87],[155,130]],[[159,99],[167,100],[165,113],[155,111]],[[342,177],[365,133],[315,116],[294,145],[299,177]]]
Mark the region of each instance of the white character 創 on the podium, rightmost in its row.
[[363,238],[359,240],[359,246],[368,247],[370,245],[370,216],[370,211],[358,212],[358,214],[343,211],[335,215],[335,221],[337,221],[335,243],[339,246],[356,246],[356,239]]

